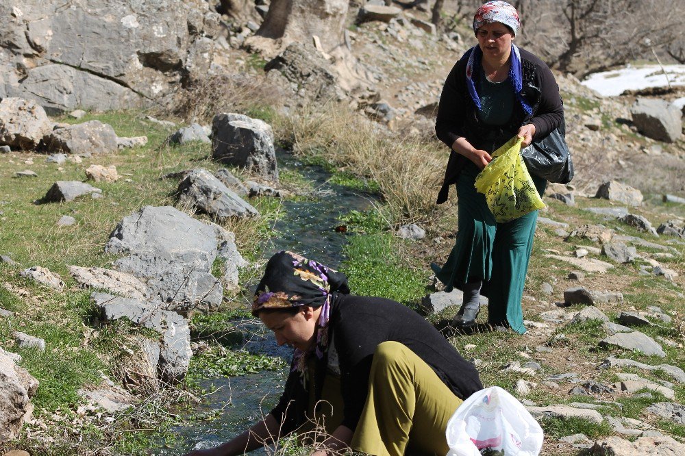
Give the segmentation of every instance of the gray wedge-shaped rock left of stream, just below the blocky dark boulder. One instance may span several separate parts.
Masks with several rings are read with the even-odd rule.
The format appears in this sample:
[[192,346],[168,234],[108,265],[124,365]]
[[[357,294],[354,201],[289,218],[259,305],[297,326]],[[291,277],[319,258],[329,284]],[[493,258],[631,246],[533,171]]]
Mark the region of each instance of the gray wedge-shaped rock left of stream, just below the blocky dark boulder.
[[208,170],[192,170],[178,186],[179,202],[218,219],[257,216],[257,210],[223,185]]

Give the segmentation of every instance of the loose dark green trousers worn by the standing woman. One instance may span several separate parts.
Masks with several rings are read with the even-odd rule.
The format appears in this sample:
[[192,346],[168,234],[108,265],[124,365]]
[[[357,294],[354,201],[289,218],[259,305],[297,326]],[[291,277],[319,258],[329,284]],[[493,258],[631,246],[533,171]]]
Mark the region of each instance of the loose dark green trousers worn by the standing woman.
[[[469,162],[457,181],[458,233],[456,243],[436,277],[445,291],[464,283],[482,280],[481,294],[488,296],[488,322],[507,323],[517,333],[523,326],[523,285],[533,249],[538,212],[530,212],[508,223],[497,223],[488,209],[485,195],[473,186],[480,170]],[[540,195],[547,181],[533,176]]]

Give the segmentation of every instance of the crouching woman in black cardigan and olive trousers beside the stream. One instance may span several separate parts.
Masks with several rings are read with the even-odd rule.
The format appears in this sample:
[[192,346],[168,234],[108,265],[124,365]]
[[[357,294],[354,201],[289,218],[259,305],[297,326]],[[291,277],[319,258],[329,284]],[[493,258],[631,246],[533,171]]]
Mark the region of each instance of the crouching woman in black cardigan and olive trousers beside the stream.
[[478,373],[423,317],[389,299],[352,296],[347,277],[295,253],[266,264],[252,313],[295,348],[278,405],[238,437],[192,456],[238,455],[317,423],[314,454],[446,454],[447,421]]

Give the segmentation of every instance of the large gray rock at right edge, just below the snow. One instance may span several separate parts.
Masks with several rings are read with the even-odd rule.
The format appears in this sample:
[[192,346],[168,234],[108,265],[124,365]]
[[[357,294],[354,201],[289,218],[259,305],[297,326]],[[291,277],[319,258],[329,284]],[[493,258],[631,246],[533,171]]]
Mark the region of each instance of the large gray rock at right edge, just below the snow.
[[648,138],[675,142],[682,134],[682,113],[665,100],[638,98],[630,114],[638,131]]

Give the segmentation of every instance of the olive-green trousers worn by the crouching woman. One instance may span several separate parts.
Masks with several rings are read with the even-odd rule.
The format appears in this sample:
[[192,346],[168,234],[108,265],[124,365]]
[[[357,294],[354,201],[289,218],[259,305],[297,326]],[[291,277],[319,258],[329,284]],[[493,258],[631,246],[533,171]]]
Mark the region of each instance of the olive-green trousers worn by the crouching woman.
[[[350,446],[373,456],[403,456],[408,450],[444,456],[447,422],[462,402],[413,351],[383,342],[373,354],[369,395]],[[340,380],[328,375],[316,413],[327,433],[343,419],[336,413],[342,407]]]

